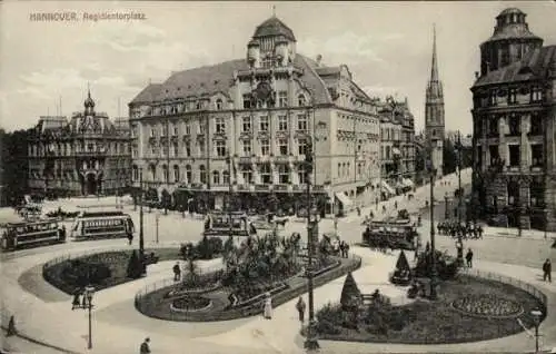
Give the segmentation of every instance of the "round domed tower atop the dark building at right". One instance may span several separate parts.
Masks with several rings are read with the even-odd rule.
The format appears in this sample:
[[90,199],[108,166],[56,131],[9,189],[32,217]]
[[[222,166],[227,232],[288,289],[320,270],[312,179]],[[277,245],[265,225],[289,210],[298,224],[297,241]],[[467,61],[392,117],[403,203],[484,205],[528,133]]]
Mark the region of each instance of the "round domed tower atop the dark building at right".
[[529,31],[527,14],[509,8],[496,17],[493,36],[480,45],[480,75],[519,61],[525,53],[543,47],[543,39]]

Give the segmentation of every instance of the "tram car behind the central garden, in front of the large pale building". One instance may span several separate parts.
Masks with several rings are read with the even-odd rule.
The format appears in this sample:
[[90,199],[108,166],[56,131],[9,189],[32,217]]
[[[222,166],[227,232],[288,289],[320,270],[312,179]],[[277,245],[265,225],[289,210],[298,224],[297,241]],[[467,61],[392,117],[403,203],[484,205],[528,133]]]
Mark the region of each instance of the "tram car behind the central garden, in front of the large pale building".
[[215,212],[207,215],[202,233],[205,236],[229,236],[230,232],[232,236],[249,236],[251,234],[252,229],[247,214],[242,212]]

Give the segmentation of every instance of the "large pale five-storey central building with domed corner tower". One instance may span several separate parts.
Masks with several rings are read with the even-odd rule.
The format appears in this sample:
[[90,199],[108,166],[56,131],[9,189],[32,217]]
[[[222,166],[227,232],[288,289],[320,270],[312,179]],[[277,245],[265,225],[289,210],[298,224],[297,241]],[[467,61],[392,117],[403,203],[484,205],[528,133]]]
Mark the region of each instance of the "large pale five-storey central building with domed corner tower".
[[246,58],[145,88],[129,104],[136,186],[142,174],[159,195],[186,191],[212,208],[225,206],[231,184],[242,208],[271,196],[291,209],[306,199],[311,144],[314,193],[335,210],[374,199],[380,178],[376,106],[347,66],[304,57],[296,42],[272,17],[256,28]]

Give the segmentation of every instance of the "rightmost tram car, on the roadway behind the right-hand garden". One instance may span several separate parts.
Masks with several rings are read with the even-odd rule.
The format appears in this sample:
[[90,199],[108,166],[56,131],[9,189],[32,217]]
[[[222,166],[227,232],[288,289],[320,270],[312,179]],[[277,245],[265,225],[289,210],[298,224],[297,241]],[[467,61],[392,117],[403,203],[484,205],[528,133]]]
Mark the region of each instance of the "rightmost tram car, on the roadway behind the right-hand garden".
[[373,248],[415,250],[419,234],[410,222],[370,222],[363,233],[363,243]]

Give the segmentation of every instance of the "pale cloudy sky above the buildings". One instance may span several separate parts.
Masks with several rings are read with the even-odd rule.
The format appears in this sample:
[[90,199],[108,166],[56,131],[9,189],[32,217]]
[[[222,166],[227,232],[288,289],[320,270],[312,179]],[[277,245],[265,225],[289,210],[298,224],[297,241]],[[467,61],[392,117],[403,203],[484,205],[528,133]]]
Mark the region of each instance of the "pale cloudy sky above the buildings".
[[[555,1],[477,2],[0,2],[0,127],[30,128],[40,116],[83,109],[88,82],[97,111],[127,116],[147,85],[172,71],[246,57],[255,28],[276,16],[297,51],[347,65],[369,96],[407,97],[424,127],[433,26],[437,31],[446,129],[471,132],[469,87],[479,45],[505,8],[527,13],[529,29],[556,45]],[[101,12],[142,19],[87,20]],[[32,21],[32,13],[76,13],[76,21]],[[61,102],[61,105],[60,105]],[[60,109],[61,107],[61,109]]]

